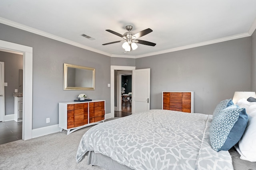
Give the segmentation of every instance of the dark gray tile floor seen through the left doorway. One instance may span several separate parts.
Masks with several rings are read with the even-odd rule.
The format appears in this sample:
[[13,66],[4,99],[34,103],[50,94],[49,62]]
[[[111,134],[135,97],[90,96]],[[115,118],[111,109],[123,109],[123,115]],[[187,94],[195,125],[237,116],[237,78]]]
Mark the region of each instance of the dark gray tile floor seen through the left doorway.
[[22,139],[22,121],[0,122],[0,145]]

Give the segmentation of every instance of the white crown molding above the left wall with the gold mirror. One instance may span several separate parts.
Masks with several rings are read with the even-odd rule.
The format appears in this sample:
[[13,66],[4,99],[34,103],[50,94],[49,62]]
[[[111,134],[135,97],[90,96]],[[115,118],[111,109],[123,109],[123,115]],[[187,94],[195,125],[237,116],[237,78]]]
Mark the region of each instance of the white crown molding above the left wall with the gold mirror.
[[28,27],[26,25],[22,25],[20,23],[16,23],[14,21],[10,21],[10,20],[6,20],[4,18],[1,18],[0,17],[0,23],[3,23],[5,25],[9,25],[9,26],[12,26],[12,27],[16,27],[18,29],[22,29],[24,31],[28,31],[28,32],[31,32],[31,33],[35,33],[35,34],[38,34],[38,35],[42,35],[44,37],[48,37],[50,39],[54,39],[54,40],[57,40],[57,41],[60,41],[62,43],[66,43],[66,44],[70,44],[70,45],[74,45],[76,47],[80,47],[82,49],[86,49],[86,50],[89,50],[89,51],[93,51],[95,53],[100,53],[102,55],[106,55],[106,56],[109,56],[111,57],[111,54],[109,53],[105,53],[103,51],[100,51],[100,50],[97,50],[97,49],[94,49],[94,48],[91,48],[91,47],[88,47],[88,46],[85,46],[85,45],[82,45],[82,44],[79,44],[79,43],[76,43],[74,41],[70,41],[68,39],[64,39],[64,38],[61,38],[61,37],[58,37],[56,35],[52,35],[50,33],[46,33],[44,31],[40,31],[38,29],[34,29],[32,27]]

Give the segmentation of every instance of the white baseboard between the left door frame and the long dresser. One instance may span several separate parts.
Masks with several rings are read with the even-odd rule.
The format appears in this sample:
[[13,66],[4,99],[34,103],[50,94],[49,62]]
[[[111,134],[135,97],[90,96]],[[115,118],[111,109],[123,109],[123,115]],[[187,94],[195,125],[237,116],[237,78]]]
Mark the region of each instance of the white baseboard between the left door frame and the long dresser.
[[56,133],[59,131],[60,131],[59,125],[52,125],[52,126],[41,127],[38,129],[32,129],[32,138],[49,135],[51,133]]

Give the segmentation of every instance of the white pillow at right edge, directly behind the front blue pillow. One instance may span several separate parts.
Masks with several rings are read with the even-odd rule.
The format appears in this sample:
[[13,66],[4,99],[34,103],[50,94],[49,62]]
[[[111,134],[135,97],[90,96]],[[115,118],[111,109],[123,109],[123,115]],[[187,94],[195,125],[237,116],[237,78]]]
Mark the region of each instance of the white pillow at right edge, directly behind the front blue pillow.
[[248,124],[244,135],[240,139],[236,150],[241,155],[240,158],[251,162],[256,162],[256,110],[248,115]]

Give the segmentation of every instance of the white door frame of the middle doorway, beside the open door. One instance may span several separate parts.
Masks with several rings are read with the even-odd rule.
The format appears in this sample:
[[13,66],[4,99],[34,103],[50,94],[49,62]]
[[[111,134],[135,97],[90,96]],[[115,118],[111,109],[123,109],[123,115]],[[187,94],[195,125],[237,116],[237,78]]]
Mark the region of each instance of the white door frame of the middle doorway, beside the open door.
[[110,66],[110,114],[105,119],[115,117],[115,70],[135,70],[136,66]]

